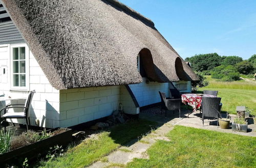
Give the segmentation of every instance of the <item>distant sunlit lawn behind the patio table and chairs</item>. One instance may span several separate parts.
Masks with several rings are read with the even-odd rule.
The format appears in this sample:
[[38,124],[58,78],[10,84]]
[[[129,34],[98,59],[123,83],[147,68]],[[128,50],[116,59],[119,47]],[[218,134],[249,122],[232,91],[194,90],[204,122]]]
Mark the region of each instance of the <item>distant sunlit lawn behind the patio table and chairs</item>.
[[223,103],[222,111],[228,111],[230,114],[236,114],[238,105],[245,105],[252,109],[252,115],[256,116],[256,82],[248,82],[244,80],[233,82],[222,82],[206,76],[209,86],[200,88],[198,92],[203,90],[217,90],[218,96],[221,97]]

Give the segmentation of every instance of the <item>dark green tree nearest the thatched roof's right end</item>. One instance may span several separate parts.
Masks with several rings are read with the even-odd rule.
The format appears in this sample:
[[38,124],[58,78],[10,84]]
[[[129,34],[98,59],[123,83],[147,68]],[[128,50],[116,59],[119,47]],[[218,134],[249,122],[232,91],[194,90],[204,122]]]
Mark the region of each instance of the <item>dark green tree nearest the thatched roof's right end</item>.
[[193,70],[202,72],[220,66],[222,57],[217,53],[196,54],[193,57],[186,58],[185,61],[191,63]]

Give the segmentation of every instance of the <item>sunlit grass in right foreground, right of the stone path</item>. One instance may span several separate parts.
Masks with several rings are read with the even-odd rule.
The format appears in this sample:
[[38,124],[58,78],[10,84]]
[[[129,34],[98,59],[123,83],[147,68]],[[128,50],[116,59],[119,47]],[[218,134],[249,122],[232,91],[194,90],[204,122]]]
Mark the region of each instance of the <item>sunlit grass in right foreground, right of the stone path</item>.
[[175,126],[147,150],[150,159],[134,159],[127,167],[255,167],[256,138]]

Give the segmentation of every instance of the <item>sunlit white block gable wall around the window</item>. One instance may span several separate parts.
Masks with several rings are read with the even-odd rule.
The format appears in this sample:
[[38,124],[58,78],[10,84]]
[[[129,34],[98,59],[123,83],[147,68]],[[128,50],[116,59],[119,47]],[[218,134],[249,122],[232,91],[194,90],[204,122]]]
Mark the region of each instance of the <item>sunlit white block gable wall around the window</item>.
[[[6,75],[0,73],[0,95],[6,97],[27,98],[28,91],[11,90],[10,84],[10,44],[0,45],[0,67],[7,67]],[[32,52],[29,51],[29,90],[35,90],[30,111],[31,125],[36,125],[35,120],[39,120],[39,126],[55,128],[59,127],[59,91],[54,89],[44,72],[42,72]],[[28,66],[28,65],[27,65]],[[2,68],[1,68],[2,69]],[[13,100],[11,103],[25,103],[26,99]],[[1,101],[0,105],[5,105],[10,101]],[[0,107],[1,108],[1,107]],[[15,109],[15,111],[17,111]],[[14,123],[25,123],[23,119],[12,119]]]

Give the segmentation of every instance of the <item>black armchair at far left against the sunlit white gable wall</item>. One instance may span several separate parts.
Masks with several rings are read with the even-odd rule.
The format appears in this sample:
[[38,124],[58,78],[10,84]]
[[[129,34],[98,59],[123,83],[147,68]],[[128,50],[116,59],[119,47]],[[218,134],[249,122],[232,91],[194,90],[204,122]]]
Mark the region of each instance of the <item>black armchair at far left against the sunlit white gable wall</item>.
[[[2,111],[4,111],[4,115],[1,117],[1,120],[0,120],[1,121],[0,130],[1,130],[2,121],[6,122],[6,119],[25,119],[27,124],[27,130],[29,129],[28,128],[28,125],[30,125],[29,112],[30,112],[31,101],[34,93],[35,91],[30,92],[25,104],[9,104],[5,108],[0,110],[0,114],[2,113]],[[19,105],[19,106],[16,106],[16,105]],[[20,109],[20,112],[8,112],[8,109],[10,108],[18,108]],[[5,123],[5,132],[6,132],[6,123]]]

